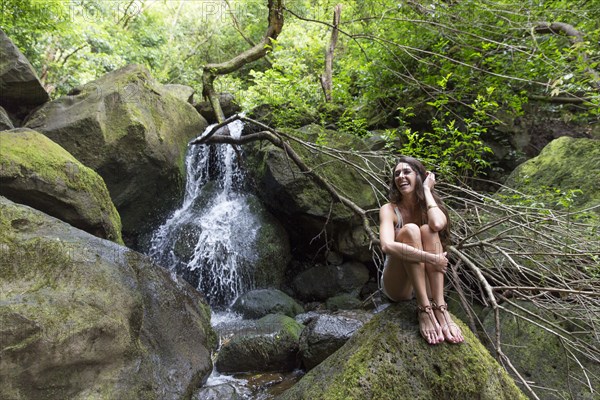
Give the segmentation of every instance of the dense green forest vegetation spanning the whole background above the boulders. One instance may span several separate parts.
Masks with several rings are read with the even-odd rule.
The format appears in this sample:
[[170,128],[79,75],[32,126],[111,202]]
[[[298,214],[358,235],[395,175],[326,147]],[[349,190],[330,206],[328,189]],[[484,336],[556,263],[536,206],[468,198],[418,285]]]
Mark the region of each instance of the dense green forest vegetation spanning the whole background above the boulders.
[[[600,7],[594,1],[349,0],[342,4],[330,99],[320,78],[336,1],[284,3],[268,57],[216,81],[276,126],[379,129],[403,152],[459,175],[489,169],[481,139],[526,107],[597,124]],[[3,0],[0,27],[53,97],[128,63],[202,92],[202,66],[260,41],[267,2]],[[518,159],[519,154],[507,157]]]

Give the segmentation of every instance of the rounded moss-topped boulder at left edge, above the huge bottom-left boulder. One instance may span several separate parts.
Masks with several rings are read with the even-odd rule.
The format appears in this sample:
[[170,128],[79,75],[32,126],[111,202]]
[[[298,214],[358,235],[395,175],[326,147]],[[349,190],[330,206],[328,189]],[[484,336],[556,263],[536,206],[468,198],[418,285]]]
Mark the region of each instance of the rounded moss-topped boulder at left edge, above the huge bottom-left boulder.
[[92,235],[122,243],[121,219],[104,181],[30,129],[0,132],[0,195]]

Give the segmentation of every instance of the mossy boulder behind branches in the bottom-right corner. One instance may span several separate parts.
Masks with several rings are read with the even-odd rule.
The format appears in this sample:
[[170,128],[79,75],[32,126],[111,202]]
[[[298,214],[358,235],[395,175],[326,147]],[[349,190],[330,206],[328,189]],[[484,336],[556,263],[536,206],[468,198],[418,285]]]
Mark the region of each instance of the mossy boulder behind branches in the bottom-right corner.
[[[598,398],[597,393],[593,393],[589,386],[600,387],[600,365],[597,362],[579,353],[577,353],[579,361],[574,361],[569,357],[571,350],[565,347],[562,339],[537,324],[529,323],[512,314],[513,312],[520,314],[523,310],[535,313],[552,324],[551,330],[555,331],[560,327],[558,329],[583,337],[584,333],[581,331],[585,329],[575,324],[565,324],[563,318],[559,319],[555,315],[555,312],[572,315],[577,311],[557,308],[552,313],[541,312],[534,304],[525,301],[517,302],[517,306],[507,305],[505,307],[510,313],[500,314],[502,351],[510,358],[515,368],[535,387],[538,397],[545,400]],[[494,313],[490,312],[483,318],[483,325],[490,336],[496,334]],[[598,339],[593,334],[589,334],[588,339],[592,347],[598,347]],[[583,374],[581,366],[585,367],[587,375]]]

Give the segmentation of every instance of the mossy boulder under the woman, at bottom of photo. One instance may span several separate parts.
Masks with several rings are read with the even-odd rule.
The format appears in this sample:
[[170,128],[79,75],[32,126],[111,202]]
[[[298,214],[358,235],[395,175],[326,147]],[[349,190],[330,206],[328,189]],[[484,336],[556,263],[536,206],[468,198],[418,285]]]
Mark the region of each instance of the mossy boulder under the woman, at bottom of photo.
[[428,345],[414,307],[393,304],[375,315],[277,399],[526,399],[460,321],[465,343]]

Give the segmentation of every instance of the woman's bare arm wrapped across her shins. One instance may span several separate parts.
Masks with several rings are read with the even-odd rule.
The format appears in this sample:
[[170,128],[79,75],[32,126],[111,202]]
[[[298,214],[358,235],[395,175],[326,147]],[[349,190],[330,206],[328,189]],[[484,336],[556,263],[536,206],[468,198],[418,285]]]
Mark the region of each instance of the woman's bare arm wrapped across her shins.
[[393,255],[405,261],[425,262],[440,267],[445,267],[448,264],[448,259],[441,254],[428,253],[406,243],[397,242],[394,216],[394,208],[390,203],[379,209],[379,240],[381,250],[385,254]]

